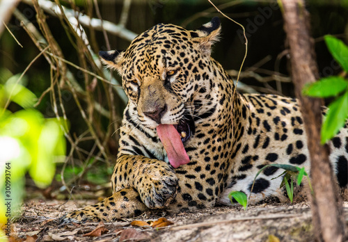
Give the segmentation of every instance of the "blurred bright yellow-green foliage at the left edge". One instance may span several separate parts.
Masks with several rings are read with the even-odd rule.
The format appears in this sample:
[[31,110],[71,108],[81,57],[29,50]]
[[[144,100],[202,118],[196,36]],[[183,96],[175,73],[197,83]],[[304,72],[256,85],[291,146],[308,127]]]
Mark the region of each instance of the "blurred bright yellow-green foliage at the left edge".
[[[0,71],[0,76],[9,75],[7,70]],[[26,173],[39,188],[49,186],[56,171],[55,162],[65,159],[66,152],[60,122],[44,118],[33,108],[36,97],[22,85],[25,79],[20,76],[10,76],[6,81],[2,78],[0,82],[0,198],[3,201],[6,195],[11,199],[11,218],[22,202]],[[19,111],[10,112],[8,104],[16,104]],[[5,178],[10,181],[10,193],[5,193]],[[1,203],[3,224],[7,219],[5,211]]]

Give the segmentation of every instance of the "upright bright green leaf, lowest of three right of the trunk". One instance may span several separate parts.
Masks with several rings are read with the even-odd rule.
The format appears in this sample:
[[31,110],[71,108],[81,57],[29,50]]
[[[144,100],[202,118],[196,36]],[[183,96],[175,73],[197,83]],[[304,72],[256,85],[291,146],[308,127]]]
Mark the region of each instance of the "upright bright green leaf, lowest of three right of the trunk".
[[344,95],[335,99],[329,105],[329,110],[326,113],[324,122],[322,125],[322,140],[321,143],[324,144],[327,140],[330,140],[335,136],[340,128],[345,125],[348,118],[348,90]]

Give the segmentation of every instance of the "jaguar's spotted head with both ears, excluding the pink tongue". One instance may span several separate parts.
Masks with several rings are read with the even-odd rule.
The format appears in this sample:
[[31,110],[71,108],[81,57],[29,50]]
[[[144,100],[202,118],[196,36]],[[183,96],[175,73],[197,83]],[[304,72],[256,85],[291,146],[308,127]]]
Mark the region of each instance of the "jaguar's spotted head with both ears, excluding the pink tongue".
[[157,24],[125,51],[101,51],[100,56],[120,72],[141,124],[150,129],[173,124],[185,142],[194,132],[195,101],[208,90],[210,49],[219,31],[218,18],[194,31]]

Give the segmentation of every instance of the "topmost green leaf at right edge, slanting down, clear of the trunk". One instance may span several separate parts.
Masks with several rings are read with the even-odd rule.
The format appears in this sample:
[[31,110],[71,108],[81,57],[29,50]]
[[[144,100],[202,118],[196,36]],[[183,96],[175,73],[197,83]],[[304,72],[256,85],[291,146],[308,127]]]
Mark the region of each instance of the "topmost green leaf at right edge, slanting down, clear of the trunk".
[[325,35],[324,40],[333,58],[348,72],[348,47],[342,40],[338,40],[332,35]]

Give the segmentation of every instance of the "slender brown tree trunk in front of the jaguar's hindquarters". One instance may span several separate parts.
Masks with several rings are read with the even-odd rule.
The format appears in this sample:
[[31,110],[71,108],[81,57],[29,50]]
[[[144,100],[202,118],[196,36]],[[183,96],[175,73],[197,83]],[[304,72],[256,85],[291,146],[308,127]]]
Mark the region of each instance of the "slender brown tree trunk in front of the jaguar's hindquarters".
[[317,241],[342,241],[345,226],[342,203],[329,162],[328,145],[320,145],[322,99],[303,97],[305,83],[319,79],[313,40],[310,38],[309,14],[303,0],[281,0],[287,41],[290,45],[292,80],[296,96],[301,102],[301,113],[308,137],[310,175],[314,195],[311,199],[313,226]]

